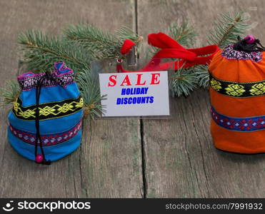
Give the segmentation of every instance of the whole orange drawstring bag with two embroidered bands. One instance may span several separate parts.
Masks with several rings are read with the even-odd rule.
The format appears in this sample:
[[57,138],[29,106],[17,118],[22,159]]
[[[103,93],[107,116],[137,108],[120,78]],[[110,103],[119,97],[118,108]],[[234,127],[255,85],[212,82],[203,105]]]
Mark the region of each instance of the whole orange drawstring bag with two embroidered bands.
[[265,152],[265,51],[246,36],[218,51],[209,65],[211,136],[235,153]]

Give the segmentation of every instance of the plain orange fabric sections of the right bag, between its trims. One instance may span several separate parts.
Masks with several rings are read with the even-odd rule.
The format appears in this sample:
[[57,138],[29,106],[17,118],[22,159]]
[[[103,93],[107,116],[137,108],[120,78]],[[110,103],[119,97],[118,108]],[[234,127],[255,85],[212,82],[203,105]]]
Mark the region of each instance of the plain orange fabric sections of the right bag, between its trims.
[[[238,83],[264,81],[265,52],[262,61],[226,59],[218,51],[209,65],[209,72],[222,81]],[[229,117],[254,117],[265,115],[265,96],[234,98],[214,91],[210,86],[211,106],[218,113]],[[231,131],[211,120],[211,135],[214,146],[236,153],[265,153],[265,130]]]

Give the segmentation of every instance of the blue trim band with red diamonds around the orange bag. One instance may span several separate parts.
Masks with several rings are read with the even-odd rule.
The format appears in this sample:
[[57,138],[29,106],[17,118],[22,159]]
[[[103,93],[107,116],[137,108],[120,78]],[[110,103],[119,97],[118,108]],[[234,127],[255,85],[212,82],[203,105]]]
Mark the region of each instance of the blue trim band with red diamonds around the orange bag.
[[231,131],[259,131],[265,128],[265,116],[249,117],[249,118],[231,118],[224,116],[211,107],[211,118],[214,122]]

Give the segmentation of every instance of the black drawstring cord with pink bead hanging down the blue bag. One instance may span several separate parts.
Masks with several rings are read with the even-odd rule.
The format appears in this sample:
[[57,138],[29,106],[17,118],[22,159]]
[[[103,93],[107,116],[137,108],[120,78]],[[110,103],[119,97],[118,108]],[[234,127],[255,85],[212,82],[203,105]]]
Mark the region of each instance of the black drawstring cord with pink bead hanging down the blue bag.
[[[41,141],[41,134],[39,131],[39,98],[41,96],[41,86],[44,83],[45,78],[49,81],[53,81],[54,78],[51,76],[51,73],[46,72],[44,76],[41,76],[39,81],[37,82],[36,86],[36,119],[35,119],[35,126],[36,126],[36,141],[35,141],[35,162],[36,163],[42,163],[45,165],[50,165],[51,161],[46,161],[45,159],[45,153],[44,148],[42,147],[42,141]],[[41,148],[41,155],[37,154],[38,152],[38,143],[39,147]]]

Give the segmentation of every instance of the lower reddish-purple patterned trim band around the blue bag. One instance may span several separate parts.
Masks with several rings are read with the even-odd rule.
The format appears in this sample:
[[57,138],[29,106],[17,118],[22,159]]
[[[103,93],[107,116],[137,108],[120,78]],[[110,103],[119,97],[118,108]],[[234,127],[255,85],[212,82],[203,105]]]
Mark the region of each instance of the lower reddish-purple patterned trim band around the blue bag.
[[[20,131],[19,129],[14,128],[9,125],[11,133],[16,136],[16,138],[19,138],[21,141],[24,141],[25,143],[29,143],[31,145],[35,146],[36,141],[36,134],[29,133],[26,131]],[[73,128],[71,128],[69,131],[65,131],[62,133],[56,133],[52,135],[41,135],[41,141],[43,146],[54,146],[59,143],[63,143],[64,141],[68,141],[71,138],[74,138],[76,134],[79,132],[81,128],[81,121],[76,124]],[[39,146],[40,143],[38,143]]]

